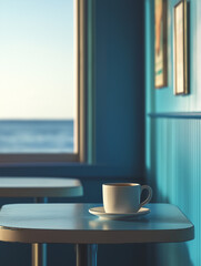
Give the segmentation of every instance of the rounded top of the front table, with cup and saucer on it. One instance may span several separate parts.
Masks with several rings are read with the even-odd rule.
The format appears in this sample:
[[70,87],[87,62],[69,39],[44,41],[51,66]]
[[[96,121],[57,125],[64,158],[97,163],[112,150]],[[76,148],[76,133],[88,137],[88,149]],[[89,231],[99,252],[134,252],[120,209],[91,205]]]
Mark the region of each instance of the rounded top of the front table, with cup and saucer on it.
[[[194,237],[192,223],[171,204],[149,204],[137,219],[107,221],[97,204],[10,204],[0,211],[0,241],[21,243],[160,243]],[[99,205],[100,206],[100,205]]]

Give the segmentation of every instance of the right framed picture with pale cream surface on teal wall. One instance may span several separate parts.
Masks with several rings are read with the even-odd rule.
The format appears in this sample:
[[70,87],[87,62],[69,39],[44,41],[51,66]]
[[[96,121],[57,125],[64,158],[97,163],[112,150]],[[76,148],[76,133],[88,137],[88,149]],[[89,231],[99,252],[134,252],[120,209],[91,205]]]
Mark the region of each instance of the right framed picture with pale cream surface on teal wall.
[[174,7],[174,94],[187,94],[188,90],[188,29],[187,1]]

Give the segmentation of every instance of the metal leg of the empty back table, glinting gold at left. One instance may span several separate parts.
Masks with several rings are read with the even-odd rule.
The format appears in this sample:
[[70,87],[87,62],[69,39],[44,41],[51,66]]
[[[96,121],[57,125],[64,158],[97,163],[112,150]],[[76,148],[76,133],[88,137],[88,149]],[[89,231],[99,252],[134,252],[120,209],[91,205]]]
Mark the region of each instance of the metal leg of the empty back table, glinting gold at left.
[[[47,197],[36,197],[36,203],[48,203]],[[47,244],[32,244],[31,266],[47,266]]]

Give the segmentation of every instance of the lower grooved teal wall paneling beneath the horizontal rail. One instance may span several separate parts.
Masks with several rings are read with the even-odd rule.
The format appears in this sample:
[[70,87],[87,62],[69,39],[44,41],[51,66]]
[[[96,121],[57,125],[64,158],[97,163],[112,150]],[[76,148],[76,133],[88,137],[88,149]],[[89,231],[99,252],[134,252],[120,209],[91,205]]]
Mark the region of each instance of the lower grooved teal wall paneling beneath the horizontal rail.
[[[155,202],[178,205],[195,227],[195,239],[180,244],[150,245],[154,266],[201,265],[201,120],[154,120],[148,170]],[[152,168],[153,167],[153,168]]]

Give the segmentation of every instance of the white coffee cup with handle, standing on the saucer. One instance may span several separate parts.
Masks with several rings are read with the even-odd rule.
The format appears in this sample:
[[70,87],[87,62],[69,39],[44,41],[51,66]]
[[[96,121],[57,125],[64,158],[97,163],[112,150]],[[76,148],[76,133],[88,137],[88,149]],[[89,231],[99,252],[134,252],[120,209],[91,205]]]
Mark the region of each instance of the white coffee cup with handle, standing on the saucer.
[[[144,202],[140,203],[141,193],[148,190]],[[105,213],[137,213],[152,197],[152,188],[137,183],[107,183],[102,185],[103,207]]]

